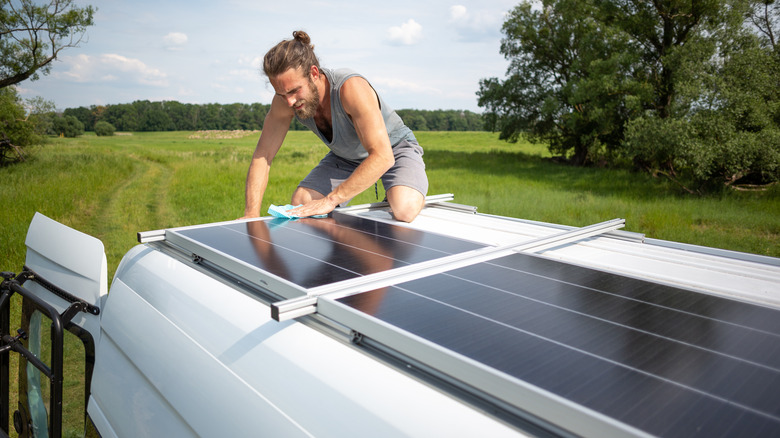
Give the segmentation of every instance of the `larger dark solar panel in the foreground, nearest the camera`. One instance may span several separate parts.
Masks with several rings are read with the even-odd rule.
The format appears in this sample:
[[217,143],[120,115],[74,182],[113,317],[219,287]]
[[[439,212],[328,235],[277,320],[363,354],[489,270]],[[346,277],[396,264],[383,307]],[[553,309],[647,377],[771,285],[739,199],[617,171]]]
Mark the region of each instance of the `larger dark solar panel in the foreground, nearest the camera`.
[[337,301],[653,435],[780,436],[774,309],[522,254]]

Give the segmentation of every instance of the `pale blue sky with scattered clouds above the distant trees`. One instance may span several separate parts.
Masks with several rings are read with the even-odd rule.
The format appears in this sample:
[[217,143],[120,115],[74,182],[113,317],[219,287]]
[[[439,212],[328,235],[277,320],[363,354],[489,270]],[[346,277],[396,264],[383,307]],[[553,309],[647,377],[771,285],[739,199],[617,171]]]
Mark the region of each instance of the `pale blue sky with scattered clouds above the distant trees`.
[[77,0],[97,7],[80,47],[19,84],[57,108],[177,100],[270,103],[263,55],[309,33],[323,67],[365,75],[394,108],[480,112],[479,80],[505,75],[510,0]]

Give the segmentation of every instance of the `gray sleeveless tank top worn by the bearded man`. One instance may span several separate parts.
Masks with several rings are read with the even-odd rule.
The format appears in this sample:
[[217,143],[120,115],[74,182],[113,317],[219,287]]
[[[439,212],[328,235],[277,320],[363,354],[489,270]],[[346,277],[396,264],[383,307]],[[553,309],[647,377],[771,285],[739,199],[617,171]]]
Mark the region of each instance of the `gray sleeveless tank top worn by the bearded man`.
[[[317,128],[317,124],[314,123],[314,118],[310,119],[298,119],[307,128],[322,139],[322,141],[333,151],[334,154],[341,158],[351,161],[362,161],[368,156],[366,148],[360,143],[357,132],[355,132],[355,125],[352,123],[352,119],[349,118],[344,106],[341,104],[341,86],[344,85],[347,79],[353,76],[363,77],[349,69],[330,70],[323,68],[322,72],[330,82],[330,114],[333,123],[333,139],[328,141],[327,138]],[[364,78],[365,79],[365,78]],[[414,133],[406,125],[398,114],[388,106],[382,97],[377,93],[379,99],[379,105],[382,110],[382,117],[385,119],[385,126],[387,127],[387,135],[390,137],[390,144],[395,147],[401,141],[414,141],[417,140],[414,137]],[[298,116],[296,116],[297,118]]]

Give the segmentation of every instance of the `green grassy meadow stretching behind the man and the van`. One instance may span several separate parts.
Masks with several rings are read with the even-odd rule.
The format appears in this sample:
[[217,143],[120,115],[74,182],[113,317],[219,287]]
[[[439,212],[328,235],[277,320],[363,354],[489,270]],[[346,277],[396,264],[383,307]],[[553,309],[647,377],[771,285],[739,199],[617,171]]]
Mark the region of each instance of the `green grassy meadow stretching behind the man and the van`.
[[[101,239],[109,279],[137,244],[138,231],[241,216],[257,133],[191,134],[51,139],[31,149],[26,162],[0,168],[0,270],[21,270],[27,227],[36,211]],[[544,146],[507,144],[496,134],[423,132],[418,139],[425,148],[429,194],[454,193],[456,202],[480,212],[574,226],[620,217],[626,230],[648,237],[780,256],[778,187],[692,197],[645,174],[554,164]],[[274,161],[262,211],[271,203],[288,203],[298,181],[325,152],[311,133],[291,132]],[[378,197],[384,197],[381,184]],[[369,189],[353,204],[376,200]],[[12,331],[18,318],[12,316]],[[13,370],[16,363],[12,355]],[[83,383],[75,383],[76,395],[66,397],[78,398]],[[83,418],[83,403],[74,409]],[[67,436],[79,436],[79,415],[72,417]]]

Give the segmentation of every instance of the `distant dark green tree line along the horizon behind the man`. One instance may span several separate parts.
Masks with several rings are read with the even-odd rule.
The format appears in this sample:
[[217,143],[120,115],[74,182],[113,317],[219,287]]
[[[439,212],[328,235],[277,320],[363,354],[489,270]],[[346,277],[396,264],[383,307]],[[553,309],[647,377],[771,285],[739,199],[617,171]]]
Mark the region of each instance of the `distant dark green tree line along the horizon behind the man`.
[[[260,130],[270,107],[261,103],[191,104],[139,100],[68,108],[62,112],[62,117],[78,120],[87,131],[94,131],[99,122],[108,123],[117,131]],[[479,131],[484,127],[482,115],[471,111],[404,109],[398,114],[415,131]],[[294,119],[290,129],[308,128]]]

